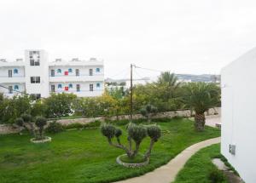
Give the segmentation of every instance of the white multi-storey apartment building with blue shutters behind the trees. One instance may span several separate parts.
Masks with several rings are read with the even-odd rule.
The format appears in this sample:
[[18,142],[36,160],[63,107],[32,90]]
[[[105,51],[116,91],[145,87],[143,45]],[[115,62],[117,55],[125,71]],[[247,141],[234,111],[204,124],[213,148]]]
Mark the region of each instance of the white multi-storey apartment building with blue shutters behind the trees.
[[24,59],[0,60],[0,93],[6,97],[27,93],[40,98],[62,92],[88,97],[103,91],[102,60],[49,61],[44,50],[26,50]]

